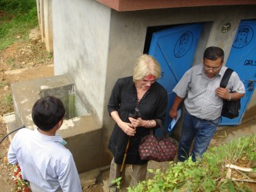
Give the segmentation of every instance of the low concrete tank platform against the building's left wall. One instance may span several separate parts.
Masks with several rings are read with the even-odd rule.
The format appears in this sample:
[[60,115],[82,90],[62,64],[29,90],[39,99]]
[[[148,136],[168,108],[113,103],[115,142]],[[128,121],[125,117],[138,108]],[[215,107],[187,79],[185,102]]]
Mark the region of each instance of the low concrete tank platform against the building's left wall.
[[[65,74],[12,84],[15,121],[9,123],[8,132],[22,125],[29,129],[35,128],[31,116],[32,106],[40,98],[42,91],[47,90],[46,95],[62,98],[72,86],[74,86],[73,82]],[[55,88],[61,91],[56,91]],[[66,104],[67,101],[63,102]],[[79,173],[99,167],[101,124],[93,114],[65,119],[58,133],[68,142],[65,147],[73,154]],[[13,136],[14,134],[10,136],[10,140]]]

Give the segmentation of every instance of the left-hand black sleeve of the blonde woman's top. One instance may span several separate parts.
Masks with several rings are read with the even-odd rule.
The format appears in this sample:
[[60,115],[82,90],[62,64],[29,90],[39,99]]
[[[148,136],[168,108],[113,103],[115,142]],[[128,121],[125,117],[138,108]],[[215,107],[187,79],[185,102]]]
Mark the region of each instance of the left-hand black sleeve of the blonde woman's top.
[[114,88],[112,89],[111,96],[108,101],[108,113],[112,111],[119,111],[119,104],[121,101],[121,84],[120,79],[116,81]]

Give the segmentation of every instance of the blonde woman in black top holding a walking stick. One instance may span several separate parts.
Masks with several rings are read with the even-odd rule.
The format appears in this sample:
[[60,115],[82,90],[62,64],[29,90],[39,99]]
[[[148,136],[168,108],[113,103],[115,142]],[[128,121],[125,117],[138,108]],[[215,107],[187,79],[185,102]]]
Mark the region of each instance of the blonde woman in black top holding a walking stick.
[[[165,121],[168,103],[167,92],[158,82],[161,67],[150,55],[141,55],[135,65],[132,77],[119,78],[111,92],[108,111],[115,121],[108,149],[113,154],[109,174],[109,189],[115,191],[112,180],[120,177],[121,164],[129,140],[125,164],[132,164],[130,187],[145,180],[148,161],[142,161],[138,154],[141,137],[149,134],[151,128],[158,127],[155,119]],[[131,118],[135,108],[139,118]],[[164,122],[163,122],[164,123]]]

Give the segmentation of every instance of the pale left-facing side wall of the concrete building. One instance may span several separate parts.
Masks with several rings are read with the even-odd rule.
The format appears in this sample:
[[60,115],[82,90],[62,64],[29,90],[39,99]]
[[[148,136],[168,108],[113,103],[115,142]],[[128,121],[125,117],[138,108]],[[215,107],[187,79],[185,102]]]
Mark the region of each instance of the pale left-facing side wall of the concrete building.
[[55,74],[68,74],[102,122],[110,8],[93,0],[52,1]]

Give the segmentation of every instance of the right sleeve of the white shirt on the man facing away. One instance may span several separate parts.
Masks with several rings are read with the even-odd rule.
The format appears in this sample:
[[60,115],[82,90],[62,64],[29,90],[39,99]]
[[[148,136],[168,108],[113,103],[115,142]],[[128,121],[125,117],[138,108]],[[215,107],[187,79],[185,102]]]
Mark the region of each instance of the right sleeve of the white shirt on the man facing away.
[[67,164],[59,164],[58,182],[62,187],[63,192],[77,191],[81,192],[81,182],[78,175],[78,170],[75,167],[75,161],[70,154]]

